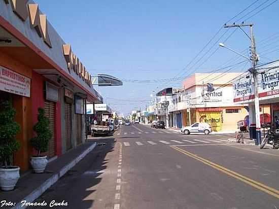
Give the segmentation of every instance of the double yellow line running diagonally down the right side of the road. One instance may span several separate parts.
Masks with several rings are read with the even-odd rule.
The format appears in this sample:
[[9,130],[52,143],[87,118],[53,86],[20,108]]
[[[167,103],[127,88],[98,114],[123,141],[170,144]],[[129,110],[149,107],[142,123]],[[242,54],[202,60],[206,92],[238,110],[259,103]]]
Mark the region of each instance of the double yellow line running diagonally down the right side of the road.
[[181,153],[183,153],[183,154],[185,154],[185,155],[187,155],[189,157],[192,157],[192,158],[194,158],[194,159],[196,159],[196,160],[198,160],[198,161],[200,161],[200,162],[202,162],[202,163],[204,163],[206,165],[209,165],[209,166],[211,166],[211,167],[213,167],[213,168],[215,168],[215,169],[217,169],[217,170],[219,170],[221,172],[224,172],[228,176],[231,176],[231,177],[233,177],[235,179],[238,179],[241,182],[245,182],[245,183],[249,184],[252,187],[255,187],[255,188],[257,188],[257,189],[259,189],[259,190],[261,190],[261,191],[263,191],[263,192],[265,192],[267,194],[270,194],[270,195],[272,195],[274,197],[279,198],[279,191],[274,189],[274,188],[268,187],[268,186],[266,186],[264,184],[261,184],[259,182],[254,181],[254,180],[252,180],[252,179],[250,179],[248,177],[242,176],[242,175],[240,175],[239,173],[237,173],[237,172],[235,172],[233,170],[230,170],[230,169],[225,168],[225,167],[223,167],[221,165],[218,165],[218,164],[216,164],[214,162],[211,162],[209,160],[201,158],[201,157],[199,157],[197,155],[194,155],[194,154],[192,154],[192,153],[190,153],[188,151],[185,151],[185,150],[183,150],[181,148],[178,148],[178,147],[171,147],[171,148],[173,148],[173,149],[175,149],[175,150],[177,150],[177,151],[179,151],[179,152],[181,152]]

